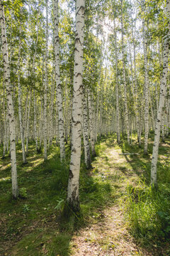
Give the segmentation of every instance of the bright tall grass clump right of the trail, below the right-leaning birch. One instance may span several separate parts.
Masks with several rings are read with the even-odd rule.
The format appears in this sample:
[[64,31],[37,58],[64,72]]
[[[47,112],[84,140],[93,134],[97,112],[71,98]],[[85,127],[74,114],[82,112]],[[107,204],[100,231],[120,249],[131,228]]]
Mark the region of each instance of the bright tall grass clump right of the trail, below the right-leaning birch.
[[125,198],[130,230],[143,242],[163,242],[170,235],[170,188],[160,184],[156,189],[140,183],[128,186]]

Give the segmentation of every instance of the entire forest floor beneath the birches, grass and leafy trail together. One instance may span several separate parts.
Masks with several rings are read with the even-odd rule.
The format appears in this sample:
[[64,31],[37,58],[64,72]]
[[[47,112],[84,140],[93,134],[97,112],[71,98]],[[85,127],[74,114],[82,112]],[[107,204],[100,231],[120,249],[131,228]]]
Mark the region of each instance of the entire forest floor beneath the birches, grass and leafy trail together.
[[10,159],[0,160],[1,256],[170,255],[169,139],[160,145],[155,192],[149,187],[151,139],[147,156],[135,139],[132,146],[118,146],[114,137],[98,142],[93,169],[86,171],[81,164],[81,216],[68,222],[59,216],[67,191],[69,146],[64,164],[56,146],[46,163],[34,150],[30,146],[24,166],[18,151],[23,198],[17,201],[11,199]]

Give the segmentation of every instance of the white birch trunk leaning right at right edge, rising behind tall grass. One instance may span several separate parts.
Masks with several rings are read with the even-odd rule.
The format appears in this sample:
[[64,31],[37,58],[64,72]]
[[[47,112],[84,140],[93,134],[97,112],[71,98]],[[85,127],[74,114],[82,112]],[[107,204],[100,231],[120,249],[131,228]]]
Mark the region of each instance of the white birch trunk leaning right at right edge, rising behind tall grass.
[[[170,18],[170,0],[166,0],[166,8],[168,18]],[[168,23],[168,26],[170,21]],[[168,30],[167,30],[168,31]],[[170,29],[169,29],[170,33]],[[169,33],[167,32],[164,36],[164,54],[163,54],[163,71],[162,71],[162,82],[160,86],[160,96],[159,96],[159,107],[157,112],[157,122],[155,126],[154,132],[154,146],[152,152],[152,164],[151,164],[151,183],[152,185],[157,185],[157,159],[158,159],[158,150],[159,150],[159,139],[161,132],[161,123],[162,123],[162,110],[164,107],[164,101],[166,96],[166,79],[168,74],[168,66],[169,66]]]

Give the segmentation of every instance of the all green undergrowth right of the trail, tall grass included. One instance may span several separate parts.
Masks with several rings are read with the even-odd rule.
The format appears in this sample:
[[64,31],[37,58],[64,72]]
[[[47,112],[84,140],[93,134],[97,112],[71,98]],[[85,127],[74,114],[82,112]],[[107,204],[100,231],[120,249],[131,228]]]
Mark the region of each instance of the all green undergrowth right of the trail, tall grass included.
[[[146,247],[166,247],[166,255],[170,255],[170,143],[166,138],[159,146],[157,164],[157,188],[150,186],[150,169],[152,159],[152,134],[149,137],[148,154],[143,154],[143,146],[137,142],[129,146],[123,142],[120,146],[123,153],[137,153],[125,156],[134,174],[138,178],[128,183],[123,196],[123,207],[126,212],[129,230],[132,235]],[[161,253],[161,252],[160,252]]]

